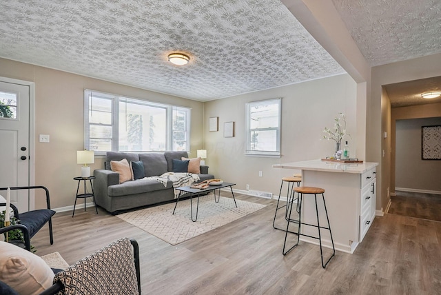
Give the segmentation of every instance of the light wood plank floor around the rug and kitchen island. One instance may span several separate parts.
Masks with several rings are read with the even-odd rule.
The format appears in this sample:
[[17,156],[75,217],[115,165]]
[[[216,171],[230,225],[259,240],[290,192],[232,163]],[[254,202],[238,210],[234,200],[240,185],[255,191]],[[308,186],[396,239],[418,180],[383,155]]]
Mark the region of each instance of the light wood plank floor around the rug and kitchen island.
[[322,269],[316,245],[300,242],[283,256],[285,233],[272,227],[275,200],[236,198],[267,207],[176,246],[92,208],[74,218],[55,214],[54,245],[47,228],[32,245],[71,264],[117,238],[136,238],[143,294],[441,294],[439,222],[377,217],[354,254],[336,252]]

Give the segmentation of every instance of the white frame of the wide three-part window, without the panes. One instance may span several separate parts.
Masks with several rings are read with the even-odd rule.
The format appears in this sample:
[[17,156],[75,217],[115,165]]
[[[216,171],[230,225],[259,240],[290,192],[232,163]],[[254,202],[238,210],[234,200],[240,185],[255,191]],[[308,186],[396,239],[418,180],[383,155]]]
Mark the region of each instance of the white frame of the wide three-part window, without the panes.
[[[90,150],[90,122],[89,122],[89,97],[90,95],[101,96],[105,99],[112,99],[112,152],[119,152],[119,103],[120,100],[127,100],[129,102],[141,103],[143,105],[149,105],[156,108],[165,108],[166,109],[166,150],[173,150],[174,139],[173,139],[173,122],[174,116],[173,111],[179,110],[183,111],[186,114],[186,144],[185,150],[189,152],[190,150],[190,126],[191,126],[191,108],[186,108],[178,105],[167,105],[164,103],[156,103],[152,101],[146,101],[143,99],[136,99],[128,96],[118,96],[116,94],[110,94],[105,92],[99,92],[95,90],[84,90],[84,148],[86,150]],[[96,155],[105,155],[108,151],[95,150]],[[123,152],[123,151],[121,151]],[[138,151],[136,151],[138,152]],[[154,152],[154,151],[139,151],[139,152]],[[157,152],[157,151],[156,151]]]

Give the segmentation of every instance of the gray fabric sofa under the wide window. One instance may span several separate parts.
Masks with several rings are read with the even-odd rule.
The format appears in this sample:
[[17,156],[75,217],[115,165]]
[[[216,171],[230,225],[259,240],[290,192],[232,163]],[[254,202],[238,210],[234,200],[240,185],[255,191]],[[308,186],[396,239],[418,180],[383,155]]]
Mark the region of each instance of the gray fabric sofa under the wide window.
[[[164,153],[124,153],[107,152],[105,169],[94,170],[94,196],[96,205],[103,207],[112,214],[119,214],[145,205],[153,205],[174,200],[172,181],[167,181],[167,186],[154,180],[137,179],[119,183],[119,173],[110,170],[110,161],[143,161],[145,176],[160,176],[165,172],[173,171],[173,159],[188,158],[187,152]],[[201,165],[200,181],[214,179],[208,174],[208,166]]]

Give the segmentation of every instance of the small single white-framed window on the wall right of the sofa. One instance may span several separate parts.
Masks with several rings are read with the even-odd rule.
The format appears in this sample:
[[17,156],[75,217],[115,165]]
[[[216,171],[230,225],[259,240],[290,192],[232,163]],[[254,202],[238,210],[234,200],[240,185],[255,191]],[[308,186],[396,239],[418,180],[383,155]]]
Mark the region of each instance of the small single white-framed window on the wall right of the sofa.
[[245,105],[245,154],[280,156],[281,107],[282,99]]

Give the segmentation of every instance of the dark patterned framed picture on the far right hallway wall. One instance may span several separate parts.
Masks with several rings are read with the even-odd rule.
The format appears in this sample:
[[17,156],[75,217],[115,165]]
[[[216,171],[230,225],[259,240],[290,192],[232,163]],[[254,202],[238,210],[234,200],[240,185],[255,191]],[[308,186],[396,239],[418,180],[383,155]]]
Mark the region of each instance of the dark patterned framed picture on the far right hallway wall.
[[441,125],[421,127],[421,159],[441,160]]

